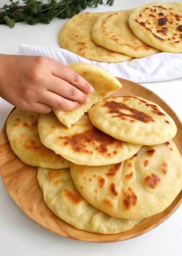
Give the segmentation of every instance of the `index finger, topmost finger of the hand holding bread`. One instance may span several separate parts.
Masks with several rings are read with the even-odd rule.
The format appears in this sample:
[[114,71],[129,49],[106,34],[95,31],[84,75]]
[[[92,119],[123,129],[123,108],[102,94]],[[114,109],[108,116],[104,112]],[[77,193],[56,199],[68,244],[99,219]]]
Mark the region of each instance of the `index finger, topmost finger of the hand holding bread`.
[[68,66],[62,65],[59,62],[54,62],[51,71],[54,76],[67,81],[69,84],[74,85],[86,94],[94,92],[92,85]]

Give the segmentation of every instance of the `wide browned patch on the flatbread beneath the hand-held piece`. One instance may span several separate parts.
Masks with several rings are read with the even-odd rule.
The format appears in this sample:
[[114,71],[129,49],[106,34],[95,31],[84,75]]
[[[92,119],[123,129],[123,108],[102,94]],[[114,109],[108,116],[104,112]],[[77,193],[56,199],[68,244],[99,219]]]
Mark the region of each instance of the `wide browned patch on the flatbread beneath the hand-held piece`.
[[76,152],[92,154],[92,151],[87,150],[87,145],[92,145],[93,148],[108,157],[109,145],[115,144],[115,148],[123,148],[123,142],[117,140],[99,129],[93,127],[83,133],[77,133],[70,136],[59,137],[63,140],[64,146],[71,146]]

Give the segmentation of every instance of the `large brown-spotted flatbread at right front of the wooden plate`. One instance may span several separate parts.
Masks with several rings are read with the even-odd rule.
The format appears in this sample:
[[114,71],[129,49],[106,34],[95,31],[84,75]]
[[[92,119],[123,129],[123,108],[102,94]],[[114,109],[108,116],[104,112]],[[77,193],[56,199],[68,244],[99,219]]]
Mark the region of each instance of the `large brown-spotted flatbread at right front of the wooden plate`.
[[143,146],[123,163],[70,164],[73,182],[92,206],[115,218],[146,218],[162,212],[182,189],[182,158],[174,142]]

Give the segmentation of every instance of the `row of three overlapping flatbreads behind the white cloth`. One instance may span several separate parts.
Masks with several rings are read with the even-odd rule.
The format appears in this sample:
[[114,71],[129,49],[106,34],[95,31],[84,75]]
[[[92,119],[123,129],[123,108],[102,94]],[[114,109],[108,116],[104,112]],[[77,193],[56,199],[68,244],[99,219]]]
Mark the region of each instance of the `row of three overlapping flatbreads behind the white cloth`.
[[86,12],[61,29],[60,46],[86,59],[116,63],[182,52],[182,3],[152,2],[134,10]]

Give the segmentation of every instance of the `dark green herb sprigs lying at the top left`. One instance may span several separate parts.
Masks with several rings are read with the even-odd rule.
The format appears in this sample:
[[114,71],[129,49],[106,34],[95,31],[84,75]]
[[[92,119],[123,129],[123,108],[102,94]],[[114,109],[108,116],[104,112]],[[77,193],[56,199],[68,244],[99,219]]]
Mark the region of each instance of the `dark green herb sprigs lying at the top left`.
[[[97,7],[103,4],[102,0],[9,0],[10,5],[5,4],[0,8],[0,24],[14,27],[16,22],[24,21],[30,25],[38,22],[50,23],[54,17],[71,18],[87,7]],[[114,0],[106,0],[106,4],[113,5]]]

